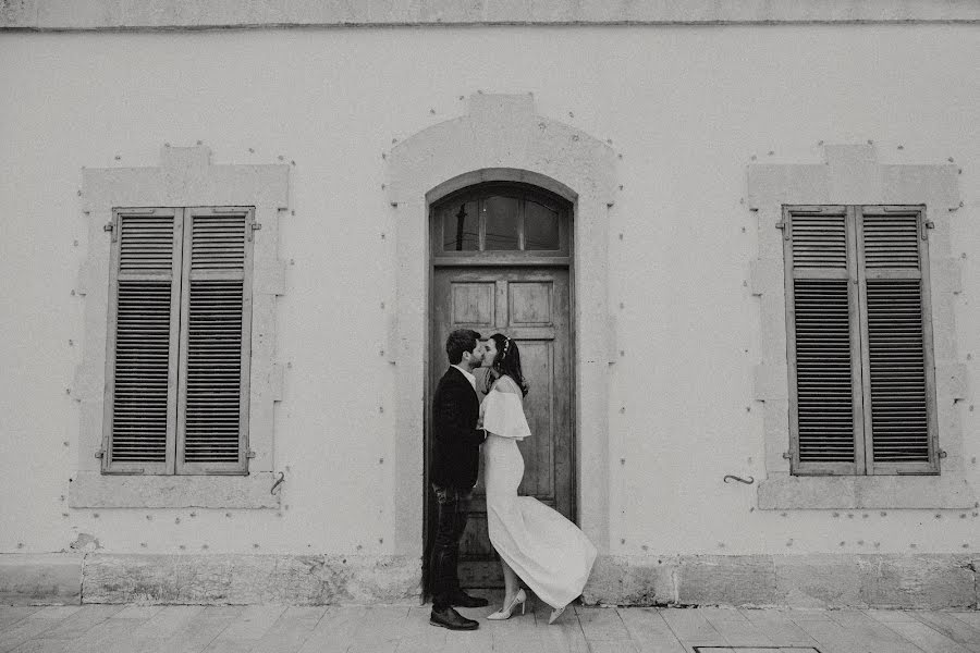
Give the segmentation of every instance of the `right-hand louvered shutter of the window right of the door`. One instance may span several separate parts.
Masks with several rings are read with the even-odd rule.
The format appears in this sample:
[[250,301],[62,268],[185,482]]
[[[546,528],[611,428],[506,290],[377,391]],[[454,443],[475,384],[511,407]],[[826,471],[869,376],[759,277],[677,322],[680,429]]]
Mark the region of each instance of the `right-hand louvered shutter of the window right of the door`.
[[869,473],[934,473],[935,380],[922,207],[859,207]]

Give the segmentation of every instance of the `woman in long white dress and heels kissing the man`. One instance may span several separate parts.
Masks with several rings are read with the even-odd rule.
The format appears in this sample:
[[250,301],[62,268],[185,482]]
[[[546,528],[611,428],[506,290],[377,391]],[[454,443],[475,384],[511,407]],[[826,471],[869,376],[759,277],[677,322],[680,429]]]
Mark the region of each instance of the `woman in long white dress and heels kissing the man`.
[[[482,446],[490,542],[503,567],[503,607],[488,619],[506,619],[517,606],[524,614],[527,594],[519,581],[552,607],[549,624],[581,593],[596,547],[574,523],[532,496],[518,496],[524,458],[517,442],[531,432],[524,416],[528,384],[520,352],[513,340],[494,333],[487,341],[483,367],[487,396],[480,405],[487,441]],[[519,580],[518,580],[519,579]]]

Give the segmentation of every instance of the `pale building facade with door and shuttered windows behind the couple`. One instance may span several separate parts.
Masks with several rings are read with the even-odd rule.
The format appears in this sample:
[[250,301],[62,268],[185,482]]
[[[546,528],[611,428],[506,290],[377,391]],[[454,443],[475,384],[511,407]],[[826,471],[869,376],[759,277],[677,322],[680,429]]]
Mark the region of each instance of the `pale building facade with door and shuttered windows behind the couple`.
[[417,601],[466,326],[586,602],[977,605],[980,8],[0,27],[4,602]]

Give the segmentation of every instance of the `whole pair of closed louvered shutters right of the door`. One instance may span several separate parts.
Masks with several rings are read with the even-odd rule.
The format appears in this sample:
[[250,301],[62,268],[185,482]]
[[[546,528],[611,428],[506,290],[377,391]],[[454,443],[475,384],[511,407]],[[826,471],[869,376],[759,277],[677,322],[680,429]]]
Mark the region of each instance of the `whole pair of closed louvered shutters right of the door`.
[[922,207],[786,207],[797,475],[936,473]]

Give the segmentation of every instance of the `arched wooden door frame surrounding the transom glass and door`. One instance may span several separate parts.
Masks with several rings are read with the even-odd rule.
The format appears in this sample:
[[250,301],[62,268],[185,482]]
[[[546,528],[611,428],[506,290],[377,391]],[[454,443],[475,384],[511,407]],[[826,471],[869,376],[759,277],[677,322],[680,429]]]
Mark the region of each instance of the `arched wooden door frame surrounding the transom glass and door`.
[[[469,190],[478,190],[480,187],[494,186],[500,185],[503,188],[507,189],[525,189],[531,190],[536,193],[540,193],[541,195],[552,195],[558,201],[561,201],[564,205],[563,215],[561,217],[562,223],[559,225],[560,244],[562,249],[555,254],[546,254],[543,256],[535,256],[528,255],[524,251],[510,251],[510,250],[494,250],[490,252],[480,252],[480,256],[470,256],[470,257],[452,257],[452,256],[437,256],[434,248],[431,246],[432,243],[437,242],[437,230],[439,225],[437,225],[437,215],[433,211],[433,207],[443,200],[448,200],[451,196],[467,193]],[[433,292],[436,285],[436,270],[437,269],[457,269],[457,270],[466,270],[471,268],[527,268],[532,270],[542,270],[547,268],[561,269],[566,270],[568,274],[568,382],[571,384],[569,387],[569,409],[572,411],[572,419],[569,420],[569,447],[571,447],[571,459],[569,459],[569,469],[572,478],[571,481],[571,519],[576,525],[579,522],[578,517],[578,439],[577,439],[577,410],[576,410],[576,374],[575,374],[575,364],[576,364],[576,330],[575,330],[575,202],[569,201],[567,198],[562,195],[551,190],[549,188],[542,188],[541,186],[537,186],[534,184],[528,184],[526,182],[514,182],[514,181],[487,181],[479,180],[474,184],[464,185],[456,187],[455,184],[452,186],[444,188],[442,193],[436,193],[434,190],[426,196],[426,214],[428,215],[428,224],[427,224],[427,237],[429,247],[428,250],[428,275],[426,280],[426,326],[428,331],[427,346],[426,346],[426,359],[425,359],[425,392],[424,392],[424,420],[422,420],[422,443],[424,443],[424,460],[422,460],[422,490],[424,490],[424,500],[422,500],[422,579],[421,579],[421,588],[422,588],[422,600],[427,600],[429,597],[429,546],[431,544],[432,538],[434,537],[434,521],[432,520],[432,513],[434,509],[433,506],[433,496],[432,492],[429,490],[429,467],[431,464],[431,454],[432,454],[432,432],[431,432],[431,423],[432,423],[432,393],[434,392],[434,387],[432,385],[432,369],[430,366],[432,365],[432,356],[438,353],[440,349],[440,344],[433,342],[434,334],[437,332],[436,329],[436,293]],[[485,336],[489,334],[482,334]],[[436,352],[433,352],[436,349]],[[446,366],[449,364],[446,362]]]

